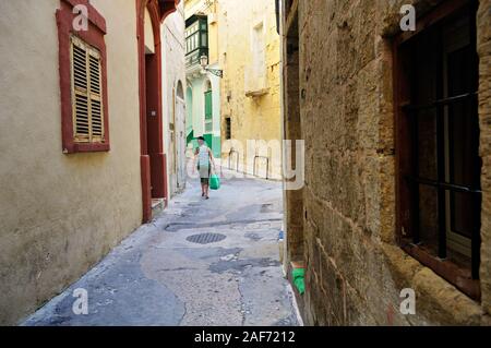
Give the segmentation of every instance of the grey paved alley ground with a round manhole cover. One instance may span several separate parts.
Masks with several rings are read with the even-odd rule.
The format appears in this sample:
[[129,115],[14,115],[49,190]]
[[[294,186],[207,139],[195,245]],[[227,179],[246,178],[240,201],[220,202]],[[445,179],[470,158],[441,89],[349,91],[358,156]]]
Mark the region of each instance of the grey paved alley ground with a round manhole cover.
[[[197,182],[23,325],[297,325],[283,277],[282,185],[224,180],[211,200]],[[88,314],[75,315],[75,289]]]

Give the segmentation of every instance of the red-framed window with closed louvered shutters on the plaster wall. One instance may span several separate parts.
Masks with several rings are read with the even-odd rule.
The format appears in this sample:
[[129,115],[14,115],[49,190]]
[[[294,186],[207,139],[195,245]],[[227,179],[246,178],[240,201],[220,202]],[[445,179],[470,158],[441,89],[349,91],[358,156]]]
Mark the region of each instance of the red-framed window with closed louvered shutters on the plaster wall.
[[[75,4],[88,9],[88,27],[83,31],[73,27]],[[62,152],[108,152],[106,20],[88,0],[61,0],[56,16]]]

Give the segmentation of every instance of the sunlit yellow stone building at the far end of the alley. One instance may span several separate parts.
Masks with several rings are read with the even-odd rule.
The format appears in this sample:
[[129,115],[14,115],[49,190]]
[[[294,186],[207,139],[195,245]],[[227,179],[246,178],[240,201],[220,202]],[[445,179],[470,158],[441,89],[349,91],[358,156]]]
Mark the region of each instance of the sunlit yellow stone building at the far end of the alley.
[[248,173],[279,178],[280,53],[275,1],[219,1],[217,15],[218,61],[224,69],[221,161]]

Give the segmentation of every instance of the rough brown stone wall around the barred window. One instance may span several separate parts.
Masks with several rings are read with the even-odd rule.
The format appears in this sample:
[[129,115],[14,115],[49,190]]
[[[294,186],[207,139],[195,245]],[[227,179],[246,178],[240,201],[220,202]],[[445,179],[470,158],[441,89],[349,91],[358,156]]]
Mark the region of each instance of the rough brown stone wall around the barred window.
[[[391,38],[398,31],[399,9],[408,2],[417,5],[418,14],[438,3],[298,1],[300,119],[306,140],[307,292],[301,307],[308,324],[490,323],[491,1],[480,1],[478,14],[483,158],[481,302],[406,254],[395,240]],[[288,79],[288,69],[286,75]],[[287,103],[285,108],[287,128]],[[287,202],[287,214],[295,209],[296,205]],[[416,290],[416,315],[399,313],[404,288]]]

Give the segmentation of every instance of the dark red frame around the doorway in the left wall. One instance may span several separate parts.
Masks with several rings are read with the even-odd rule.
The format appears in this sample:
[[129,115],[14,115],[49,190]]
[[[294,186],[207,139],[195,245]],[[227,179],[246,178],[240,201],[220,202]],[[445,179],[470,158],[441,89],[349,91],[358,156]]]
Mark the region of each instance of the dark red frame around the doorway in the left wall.
[[[167,158],[163,141],[161,105],[161,41],[160,24],[176,11],[180,0],[135,0],[136,39],[139,53],[140,96],[140,167],[142,176],[143,223],[152,219],[152,197],[165,199],[167,205]],[[147,69],[145,56],[145,9],[148,10],[154,32],[155,56]],[[146,79],[147,70],[152,80]],[[155,89],[153,89],[155,88]],[[152,91],[152,94],[147,92]],[[147,112],[147,100],[156,115]]]

